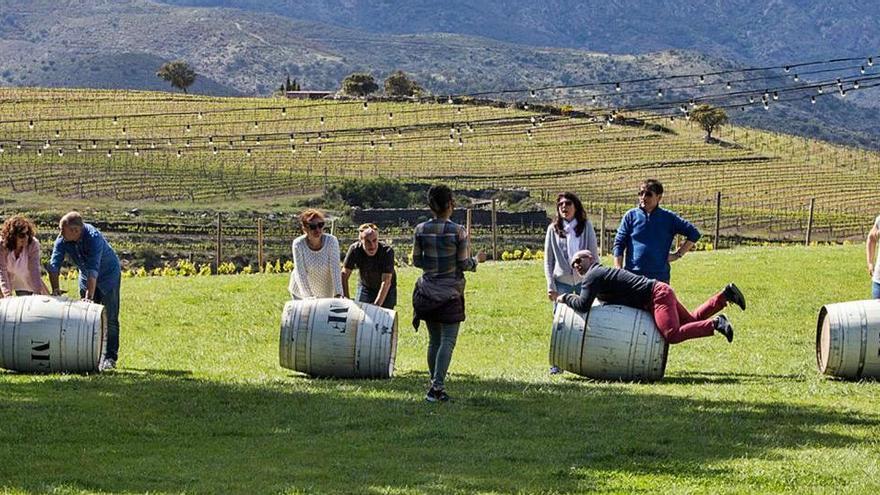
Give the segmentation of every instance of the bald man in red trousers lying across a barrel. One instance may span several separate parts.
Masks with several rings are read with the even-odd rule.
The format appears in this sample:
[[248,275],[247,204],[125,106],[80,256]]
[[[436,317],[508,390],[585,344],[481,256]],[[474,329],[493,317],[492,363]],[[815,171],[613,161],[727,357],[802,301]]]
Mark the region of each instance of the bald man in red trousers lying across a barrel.
[[728,284],[691,313],[678,302],[668,284],[620,268],[602,266],[593,259],[590,251],[578,251],[571,265],[584,277],[581,294],[563,294],[557,302],[565,303],[581,313],[589,311],[594,299],[644,309],[654,315],[657,329],[670,344],[708,337],[714,332],[733,342],[733,326],[727,317],[712,316],[728,303],[746,309],[745,297],[734,284]]

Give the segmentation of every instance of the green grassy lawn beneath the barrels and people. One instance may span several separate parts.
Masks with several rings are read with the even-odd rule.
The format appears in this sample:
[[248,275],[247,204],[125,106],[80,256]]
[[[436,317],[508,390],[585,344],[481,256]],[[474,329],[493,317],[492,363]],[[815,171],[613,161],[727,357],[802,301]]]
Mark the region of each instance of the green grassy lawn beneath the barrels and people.
[[693,253],[689,307],[730,280],[732,345],[670,350],[655,384],[547,374],[537,263],[469,275],[448,389],[431,405],[427,334],[400,276],[387,381],[278,366],[284,275],[124,281],[121,368],[0,373],[0,490],[11,493],[577,493],[880,490],[880,384],[818,375],[815,320],[864,299],[864,246]]

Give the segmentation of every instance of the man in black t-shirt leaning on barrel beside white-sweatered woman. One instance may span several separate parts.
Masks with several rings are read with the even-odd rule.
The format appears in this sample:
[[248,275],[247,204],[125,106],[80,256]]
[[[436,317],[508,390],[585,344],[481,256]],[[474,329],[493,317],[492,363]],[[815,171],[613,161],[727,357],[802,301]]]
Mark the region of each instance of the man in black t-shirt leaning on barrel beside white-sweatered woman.
[[348,279],[358,270],[356,300],[394,309],[397,305],[397,273],[394,249],[379,241],[379,228],[365,223],[358,228],[358,241],[348,248],[342,263],[342,290],[348,292]]

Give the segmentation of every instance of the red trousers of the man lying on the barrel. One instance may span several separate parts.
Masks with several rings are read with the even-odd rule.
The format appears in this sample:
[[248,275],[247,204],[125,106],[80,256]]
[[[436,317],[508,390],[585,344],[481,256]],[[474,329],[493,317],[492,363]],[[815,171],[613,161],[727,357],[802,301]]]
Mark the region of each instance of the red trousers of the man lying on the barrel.
[[654,323],[660,334],[670,344],[677,344],[698,337],[709,337],[715,333],[715,324],[710,319],[727,305],[722,292],[710,297],[691,314],[675,297],[669,284],[654,284],[654,300],[648,311],[654,313]]

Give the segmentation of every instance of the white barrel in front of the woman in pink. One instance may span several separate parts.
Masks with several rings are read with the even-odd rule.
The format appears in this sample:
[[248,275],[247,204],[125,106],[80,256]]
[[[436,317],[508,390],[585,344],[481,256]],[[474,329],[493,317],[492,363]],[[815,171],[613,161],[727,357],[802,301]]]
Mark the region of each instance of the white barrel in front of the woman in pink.
[[49,296],[0,299],[0,368],[98,371],[106,336],[100,304]]

